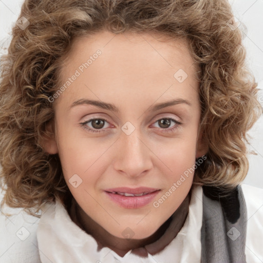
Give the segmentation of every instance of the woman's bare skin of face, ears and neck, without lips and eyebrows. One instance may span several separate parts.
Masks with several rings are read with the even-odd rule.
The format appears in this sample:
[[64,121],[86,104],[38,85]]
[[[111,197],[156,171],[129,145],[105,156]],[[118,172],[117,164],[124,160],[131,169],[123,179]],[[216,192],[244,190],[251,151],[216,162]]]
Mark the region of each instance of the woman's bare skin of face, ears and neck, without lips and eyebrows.
[[[61,68],[61,83],[98,49],[102,52],[98,59],[53,102],[55,118],[48,129],[54,137],[47,137],[44,145],[48,153],[59,154],[65,180],[78,203],[78,222],[103,246],[123,256],[160,236],[160,226],[186,198],[194,174],[185,177],[158,208],[153,202],[207,151],[199,134],[198,67],[182,40],[164,41],[156,33],[102,31],[73,42]],[[179,69],[188,74],[182,83],[174,78]],[[88,104],[70,107],[81,99],[115,104],[119,112]],[[172,99],[190,105],[179,101],[150,109]],[[84,129],[96,130],[96,123],[80,124],[92,118],[106,119],[102,132]],[[162,124],[162,118],[180,124]],[[126,122],[135,127],[130,135],[121,129]],[[69,183],[74,174],[82,179],[77,188]],[[143,208],[126,209],[104,192],[121,186],[160,191]],[[134,233],[130,239],[122,234],[127,227]]]

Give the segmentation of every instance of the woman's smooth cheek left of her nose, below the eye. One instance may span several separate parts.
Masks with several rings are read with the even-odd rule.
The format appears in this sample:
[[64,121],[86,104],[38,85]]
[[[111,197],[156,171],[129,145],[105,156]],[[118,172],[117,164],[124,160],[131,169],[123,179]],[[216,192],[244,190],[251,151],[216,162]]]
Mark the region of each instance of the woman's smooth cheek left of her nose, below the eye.
[[[97,194],[98,182],[104,173],[103,165],[108,164],[105,151],[109,146],[110,143],[106,141],[98,143],[96,139],[85,138],[76,133],[61,133],[59,157],[63,176],[70,192],[79,202],[82,199],[89,200],[89,194]],[[92,202],[89,203],[91,205]]]

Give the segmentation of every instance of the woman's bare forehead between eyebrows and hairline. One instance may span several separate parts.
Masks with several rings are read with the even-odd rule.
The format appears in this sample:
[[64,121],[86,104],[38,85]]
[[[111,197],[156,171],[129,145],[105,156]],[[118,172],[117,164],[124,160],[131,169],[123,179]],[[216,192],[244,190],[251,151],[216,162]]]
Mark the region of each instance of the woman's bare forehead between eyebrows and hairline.
[[141,94],[154,99],[165,90],[164,97],[185,93],[191,97],[193,91],[198,92],[198,66],[187,42],[156,33],[102,31],[78,37],[62,64],[61,84],[76,71],[78,78],[64,92],[68,103],[81,96],[98,95],[107,101],[110,95],[136,99]]

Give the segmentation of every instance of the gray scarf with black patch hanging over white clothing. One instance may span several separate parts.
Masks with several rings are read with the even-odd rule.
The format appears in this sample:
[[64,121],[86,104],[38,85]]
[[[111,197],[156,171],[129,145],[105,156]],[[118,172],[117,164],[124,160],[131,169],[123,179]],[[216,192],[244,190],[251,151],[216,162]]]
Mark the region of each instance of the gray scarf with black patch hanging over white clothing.
[[203,186],[202,263],[246,263],[247,209],[241,186],[227,196]]

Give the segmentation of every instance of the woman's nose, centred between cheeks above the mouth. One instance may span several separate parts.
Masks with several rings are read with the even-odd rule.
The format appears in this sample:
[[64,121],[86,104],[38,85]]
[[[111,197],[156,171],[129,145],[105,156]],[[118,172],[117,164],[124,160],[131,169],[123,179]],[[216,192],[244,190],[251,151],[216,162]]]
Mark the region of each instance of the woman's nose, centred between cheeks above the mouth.
[[138,177],[152,169],[153,153],[137,129],[130,135],[122,133],[115,149],[114,168],[117,172],[127,177]]

